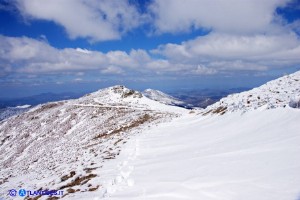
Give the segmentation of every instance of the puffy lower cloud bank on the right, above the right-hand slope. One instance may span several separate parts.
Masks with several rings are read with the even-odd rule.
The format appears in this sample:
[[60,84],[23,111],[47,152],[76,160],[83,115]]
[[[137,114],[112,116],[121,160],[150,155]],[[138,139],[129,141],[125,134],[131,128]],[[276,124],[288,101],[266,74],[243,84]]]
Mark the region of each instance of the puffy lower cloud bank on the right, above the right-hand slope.
[[294,33],[250,36],[211,33],[181,44],[161,45],[152,52],[173,63],[200,64],[217,71],[261,71],[299,64],[300,40]]

